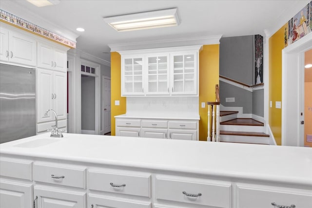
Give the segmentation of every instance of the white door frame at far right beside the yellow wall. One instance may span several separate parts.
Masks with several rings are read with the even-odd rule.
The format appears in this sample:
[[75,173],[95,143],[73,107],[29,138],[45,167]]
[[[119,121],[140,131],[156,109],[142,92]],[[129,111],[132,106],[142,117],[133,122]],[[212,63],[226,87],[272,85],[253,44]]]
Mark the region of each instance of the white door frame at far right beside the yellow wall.
[[301,115],[304,52],[312,49],[312,33],[282,50],[282,145],[303,147]]

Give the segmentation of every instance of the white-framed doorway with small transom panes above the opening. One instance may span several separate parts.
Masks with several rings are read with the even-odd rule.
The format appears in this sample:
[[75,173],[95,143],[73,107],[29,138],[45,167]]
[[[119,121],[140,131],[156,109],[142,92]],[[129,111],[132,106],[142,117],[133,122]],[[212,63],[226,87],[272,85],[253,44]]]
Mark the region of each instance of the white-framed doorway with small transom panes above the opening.
[[99,64],[80,61],[81,76],[81,133],[100,133]]

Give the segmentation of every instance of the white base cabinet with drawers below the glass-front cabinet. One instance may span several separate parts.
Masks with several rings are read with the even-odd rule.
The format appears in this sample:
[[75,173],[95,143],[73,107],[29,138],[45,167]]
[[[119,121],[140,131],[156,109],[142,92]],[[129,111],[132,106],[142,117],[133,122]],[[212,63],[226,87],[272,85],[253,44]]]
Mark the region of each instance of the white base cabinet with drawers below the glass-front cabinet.
[[116,117],[116,136],[198,140],[198,120]]

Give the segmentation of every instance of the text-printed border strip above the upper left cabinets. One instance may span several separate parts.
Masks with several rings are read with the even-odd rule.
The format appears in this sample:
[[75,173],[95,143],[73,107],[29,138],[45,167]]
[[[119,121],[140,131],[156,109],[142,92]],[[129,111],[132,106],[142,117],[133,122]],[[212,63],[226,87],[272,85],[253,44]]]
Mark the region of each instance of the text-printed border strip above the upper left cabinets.
[[26,21],[25,19],[21,19],[19,17],[16,17],[15,15],[12,15],[8,12],[5,12],[0,9],[0,20],[4,22],[8,22],[9,24],[15,25],[17,27],[20,27],[24,30],[28,30],[32,33],[38,34],[39,36],[42,36],[44,38],[52,39],[56,42],[62,43],[64,45],[67,45],[71,48],[76,48],[76,42],[72,41],[70,39],[64,38],[62,36],[59,36],[51,31],[48,31],[42,27],[39,27],[29,21]]

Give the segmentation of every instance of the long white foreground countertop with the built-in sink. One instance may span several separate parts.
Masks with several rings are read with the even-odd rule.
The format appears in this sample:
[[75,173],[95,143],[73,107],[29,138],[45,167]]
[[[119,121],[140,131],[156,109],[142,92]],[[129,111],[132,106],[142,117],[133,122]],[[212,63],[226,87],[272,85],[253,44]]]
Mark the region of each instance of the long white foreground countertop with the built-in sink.
[[71,133],[37,148],[16,146],[38,138],[49,133],[0,144],[0,154],[312,186],[312,148]]

